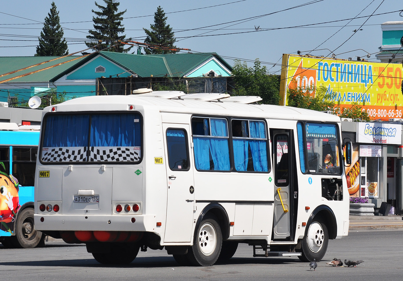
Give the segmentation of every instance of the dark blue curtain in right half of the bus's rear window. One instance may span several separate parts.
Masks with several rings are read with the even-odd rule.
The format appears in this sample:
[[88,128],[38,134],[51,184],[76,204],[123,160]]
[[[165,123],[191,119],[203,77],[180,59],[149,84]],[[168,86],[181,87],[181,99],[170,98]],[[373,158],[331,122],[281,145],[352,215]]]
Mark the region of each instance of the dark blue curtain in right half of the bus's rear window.
[[91,118],[91,147],[140,146],[139,116],[133,114],[102,114]]

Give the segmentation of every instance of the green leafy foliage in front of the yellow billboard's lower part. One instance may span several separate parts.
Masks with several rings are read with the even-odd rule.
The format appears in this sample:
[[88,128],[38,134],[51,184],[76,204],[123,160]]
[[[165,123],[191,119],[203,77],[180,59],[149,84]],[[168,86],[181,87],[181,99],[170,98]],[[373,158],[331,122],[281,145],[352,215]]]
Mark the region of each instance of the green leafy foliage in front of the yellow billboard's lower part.
[[327,89],[323,85],[319,87],[297,87],[295,79],[291,81],[291,86],[287,89],[288,106],[306,108],[316,111],[331,111],[341,118],[352,118],[357,121],[370,121],[366,110],[355,104],[350,108],[341,108],[335,104],[331,97],[326,94]]

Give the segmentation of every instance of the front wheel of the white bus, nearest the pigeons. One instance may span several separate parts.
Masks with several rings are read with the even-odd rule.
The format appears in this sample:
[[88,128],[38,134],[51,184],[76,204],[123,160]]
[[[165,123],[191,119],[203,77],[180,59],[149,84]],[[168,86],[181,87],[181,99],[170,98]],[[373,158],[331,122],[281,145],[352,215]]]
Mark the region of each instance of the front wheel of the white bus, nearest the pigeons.
[[304,262],[320,261],[326,253],[329,244],[327,227],[319,221],[312,221],[307,233],[301,241],[301,254],[298,258]]

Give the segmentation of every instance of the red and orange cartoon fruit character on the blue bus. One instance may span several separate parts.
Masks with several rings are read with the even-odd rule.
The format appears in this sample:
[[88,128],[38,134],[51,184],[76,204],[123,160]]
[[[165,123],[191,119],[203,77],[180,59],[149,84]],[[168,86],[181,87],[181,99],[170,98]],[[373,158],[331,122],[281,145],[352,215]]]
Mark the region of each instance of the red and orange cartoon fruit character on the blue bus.
[[[6,170],[3,162],[0,162],[0,169],[1,167]],[[18,180],[0,171],[0,229],[10,233],[11,223],[20,208],[18,191]]]

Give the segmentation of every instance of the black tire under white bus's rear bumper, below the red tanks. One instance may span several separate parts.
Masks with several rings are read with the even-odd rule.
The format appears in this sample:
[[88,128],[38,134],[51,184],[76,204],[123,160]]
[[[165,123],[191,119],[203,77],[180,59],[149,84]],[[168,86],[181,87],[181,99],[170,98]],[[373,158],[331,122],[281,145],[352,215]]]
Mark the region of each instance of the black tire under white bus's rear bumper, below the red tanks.
[[115,243],[108,253],[92,253],[95,260],[102,264],[129,264],[139,253],[140,246]]

